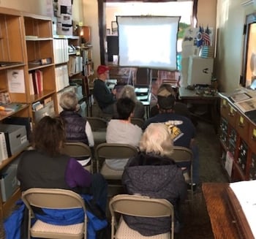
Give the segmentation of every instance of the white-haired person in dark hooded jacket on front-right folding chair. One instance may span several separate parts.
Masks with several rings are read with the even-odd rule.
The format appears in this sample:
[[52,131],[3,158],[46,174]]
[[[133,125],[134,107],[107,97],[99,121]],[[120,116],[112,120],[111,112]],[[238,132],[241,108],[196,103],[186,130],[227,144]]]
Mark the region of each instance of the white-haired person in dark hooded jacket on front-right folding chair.
[[[180,167],[171,159],[173,142],[167,126],[150,124],[140,139],[140,153],[127,162],[122,183],[128,194],[140,194],[163,198],[173,204],[175,232],[181,226],[179,205],[187,198],[187,184]],[[148,219],[124,216],[132,229],[144,236],[153,236],[170,231],[170,217]]]

